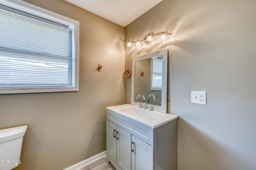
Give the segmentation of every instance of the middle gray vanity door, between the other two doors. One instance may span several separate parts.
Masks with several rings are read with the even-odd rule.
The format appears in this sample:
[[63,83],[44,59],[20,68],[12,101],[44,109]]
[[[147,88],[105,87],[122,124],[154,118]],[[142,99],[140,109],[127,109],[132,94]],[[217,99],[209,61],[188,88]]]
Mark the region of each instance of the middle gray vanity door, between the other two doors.
[[131,169],[131,134],[117,127],[117,164],[122,170]]

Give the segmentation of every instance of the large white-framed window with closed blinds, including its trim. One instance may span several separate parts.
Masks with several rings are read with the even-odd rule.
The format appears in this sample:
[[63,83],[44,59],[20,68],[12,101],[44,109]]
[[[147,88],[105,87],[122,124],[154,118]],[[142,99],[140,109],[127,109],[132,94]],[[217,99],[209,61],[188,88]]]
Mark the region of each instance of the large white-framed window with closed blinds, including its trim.
[[79,22],[18,2],[0,0],[0,94],[78,91]]

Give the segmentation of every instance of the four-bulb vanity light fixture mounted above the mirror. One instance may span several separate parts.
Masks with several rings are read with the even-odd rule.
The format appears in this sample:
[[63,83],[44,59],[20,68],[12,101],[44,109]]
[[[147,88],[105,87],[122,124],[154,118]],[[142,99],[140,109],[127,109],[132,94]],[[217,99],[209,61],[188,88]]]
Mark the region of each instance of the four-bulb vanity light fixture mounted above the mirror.
[[141,43],[140,42],[144,42],[144,43],[146,43],[146,44],[148,44],[148,43],[150,43],[151,41],[153,41],[153,37],[154,36],[156,36],[156,35],[160,35],[161,37],[160,37],[160,40],[162,40],[162,41],[164,41],[164,40],[166,40],[167,39],[167,35],[172,35],[172,33],[168,33],[168,32],[160,32],[160,33],[152,33],[152,34],[148,34],[148,35],[146,35],[146,37],[144,38],[144,39],[142,39],[142,40],[139,40],[139,39],[137,39],[137,41],[128,41],[128,43],[127,43],[127,47],[132,47],[132,45],[133,44],[135,44],[135,46],[136,47],[139,47],[140,45],[141,45]]

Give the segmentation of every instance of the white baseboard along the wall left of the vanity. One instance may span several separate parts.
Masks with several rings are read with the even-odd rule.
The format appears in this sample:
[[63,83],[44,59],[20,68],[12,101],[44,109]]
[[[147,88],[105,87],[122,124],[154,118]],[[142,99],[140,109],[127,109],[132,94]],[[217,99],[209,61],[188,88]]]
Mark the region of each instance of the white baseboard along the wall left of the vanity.
[[94,161],[104,157],[104,156],[106,156],[106,150],[101,152],[101,153],[99,153],[99,154],[96,154],[96,155],[94,155],[94,156],[92,156],[92,157],[90,157],[90,158],[88,158],[86,160],[78,162],[77,164],[74,164],[74,165],[72,165],[72,166],[70,166],[68,168],[65,168],[64,170],[78,170],[78,169],[83,168],[84,166],[86,166],[86,165],[88,165],[88,164],[90,164],[90,163],[92,163],[92,162],[94,162]]

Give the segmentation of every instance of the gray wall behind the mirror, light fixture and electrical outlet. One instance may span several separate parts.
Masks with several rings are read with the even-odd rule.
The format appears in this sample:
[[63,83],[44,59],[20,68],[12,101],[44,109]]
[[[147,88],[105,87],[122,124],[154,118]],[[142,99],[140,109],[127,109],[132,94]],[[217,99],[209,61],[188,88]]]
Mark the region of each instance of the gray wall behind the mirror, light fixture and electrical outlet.
[[[256,1],[163,0],[125,27],[125,40],[172,32],[132,58],[169,49],[168,112],[178,119],[178,170],[256,169]],[[131,81],[125,101],[130,103]],[[207,91],[207,105],[191,104]]]

